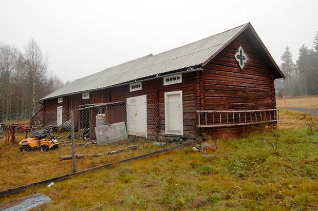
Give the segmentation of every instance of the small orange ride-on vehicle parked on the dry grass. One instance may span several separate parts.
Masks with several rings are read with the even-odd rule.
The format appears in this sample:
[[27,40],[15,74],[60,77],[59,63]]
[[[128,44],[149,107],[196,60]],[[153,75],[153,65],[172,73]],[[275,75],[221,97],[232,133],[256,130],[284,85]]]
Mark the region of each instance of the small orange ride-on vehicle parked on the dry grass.
[[[57,137],[52,136],[52,128],[49,127],[43,131],[43,133],[33,132],[33,137],[21,140],[19,149],[22,152],[30,151],[32,149],[39,149],[40,151],[48,151],[49,149],[54,149],[59,146]],[[48,141],[45,139],[48,137]]]

